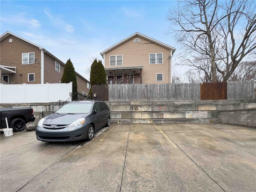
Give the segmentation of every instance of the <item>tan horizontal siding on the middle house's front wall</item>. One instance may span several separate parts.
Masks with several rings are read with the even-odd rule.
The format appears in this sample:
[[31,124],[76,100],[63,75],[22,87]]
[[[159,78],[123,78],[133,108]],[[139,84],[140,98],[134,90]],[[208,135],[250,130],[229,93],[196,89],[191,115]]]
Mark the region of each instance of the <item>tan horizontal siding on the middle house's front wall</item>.
[[[134,39],[139,38],[139,43],[134,43]],[[149,54],[162,53],[163,64],[149,64]],[[119,67],[132,67],[143,66],[142,69],[142,83],[168,83],[169,77],[169,60],[171,51],[168,48],[150,42],[139,36],[124,42],[120,46],[110,50],[105,54],[105,68],[119,68]],[[110,56],[122,55],[122,66],[110,66]],[[156,81],[156,74],[163,73],[164,81]],[[125,78],[126,76],[124,76]]]

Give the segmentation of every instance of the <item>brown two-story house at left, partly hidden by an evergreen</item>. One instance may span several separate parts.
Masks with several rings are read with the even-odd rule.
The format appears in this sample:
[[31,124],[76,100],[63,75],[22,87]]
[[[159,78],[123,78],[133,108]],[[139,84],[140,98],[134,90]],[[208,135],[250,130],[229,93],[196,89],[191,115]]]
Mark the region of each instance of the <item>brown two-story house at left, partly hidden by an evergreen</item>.
[[[0,36],[0,78],[4,84],[60,83],[65,63],[41,46],[16,34]],[[78,92],[87,95],[90,82],[76,72]]]

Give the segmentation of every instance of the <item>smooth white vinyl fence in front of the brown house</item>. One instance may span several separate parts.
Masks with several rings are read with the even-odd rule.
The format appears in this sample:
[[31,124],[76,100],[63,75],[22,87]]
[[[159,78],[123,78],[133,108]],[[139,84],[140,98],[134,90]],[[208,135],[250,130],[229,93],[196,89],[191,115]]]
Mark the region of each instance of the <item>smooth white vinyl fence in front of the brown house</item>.
[[67,100],[72,82],[56,84],[0,84],[0,103],[46,103]]

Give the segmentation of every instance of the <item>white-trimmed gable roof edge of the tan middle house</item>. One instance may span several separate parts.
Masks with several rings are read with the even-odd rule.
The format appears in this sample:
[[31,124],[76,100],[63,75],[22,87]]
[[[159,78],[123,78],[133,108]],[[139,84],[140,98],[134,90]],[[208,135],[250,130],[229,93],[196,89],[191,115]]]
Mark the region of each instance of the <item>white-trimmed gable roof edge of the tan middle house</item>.
[[109,52],[110,50],[116,48],[117,46],[123,44],[124,42],[126,42],[126,41],[128,41],[128,40],[130,40],[130,39],[132,39],[132,38],[134,38],[134,37],[136,37],[136,36],[142,37],[142,38],[144,38],[144,39],[146,39],[146,40],[149,40],[149,41],[151,41],[151,42],[153,42],[153,43],[156,43],[156,44],[158,44],[158,45],[160,45],[160,46],[163,46],[163,47],[165,47],[165,48],[168,48],[168,49],[172,50],[173,52],[176,50],[176,49],[175,49],[174,47],[172,47],[172,46],[169,46],[169,45],[164,44],[164,43],[162,43],[162,42],[160,42],[160,41],[158,41],[158,40],[152,39],[152,38],[150,38],[150,37],[148,37],[148,36],[146,36],[146,35],[143,35],[143,34],[141,34],[141,33],[139,33],[139,32],[136,32],[136,33],[132,34],[131,36],[125,38],[124,40],[122,40],[122,41],[120,41],[120,42],[114,44],[114,45],[111,46],[110,48],[107,48],[106,50],[102,51],[102,52],[100,53],[101,56],[102,56],[102,58],[104,58],[104,54],[105,54],[105,53]]

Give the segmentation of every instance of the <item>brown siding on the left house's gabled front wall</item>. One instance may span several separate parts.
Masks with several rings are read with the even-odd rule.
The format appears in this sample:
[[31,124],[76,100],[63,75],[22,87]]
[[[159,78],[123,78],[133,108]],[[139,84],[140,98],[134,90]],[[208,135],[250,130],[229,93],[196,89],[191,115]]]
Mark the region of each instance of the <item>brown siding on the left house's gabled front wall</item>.
[[[12,43],[9,42],[12,39]],[[0,64],[6,66],[16,66],[16,74],[9,74],[9,84],[40,84],[41,68],[39,61],[34,64],[22,64],[22,53],[35,53],[35,59],[41,59],[41,50],[20,38],[8,36],[0,43]],[[28,82],[28,74],[35,74],[35,81]],[[2,73],[4,74],[4,73]],[[22,75],[20,75],[22,74]],[[2,77],[1,77],[2,78]]]

